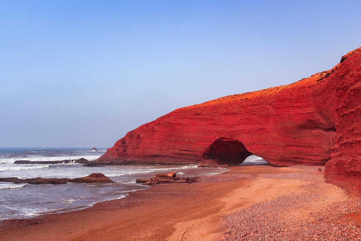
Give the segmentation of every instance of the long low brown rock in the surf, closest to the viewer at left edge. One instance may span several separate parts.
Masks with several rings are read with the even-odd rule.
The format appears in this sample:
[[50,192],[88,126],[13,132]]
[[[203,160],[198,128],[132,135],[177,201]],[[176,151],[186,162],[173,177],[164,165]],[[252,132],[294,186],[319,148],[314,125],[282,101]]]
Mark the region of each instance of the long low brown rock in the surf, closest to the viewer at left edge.
[[20,179],[17,177],[0,177],[1,182],[14,182],[14,183],[29,183],[29,184],[65,184],[67,182],[113,182],[109,177],[104,176],[102,173],[92,173],[86,177],[79,178],[26,178]]

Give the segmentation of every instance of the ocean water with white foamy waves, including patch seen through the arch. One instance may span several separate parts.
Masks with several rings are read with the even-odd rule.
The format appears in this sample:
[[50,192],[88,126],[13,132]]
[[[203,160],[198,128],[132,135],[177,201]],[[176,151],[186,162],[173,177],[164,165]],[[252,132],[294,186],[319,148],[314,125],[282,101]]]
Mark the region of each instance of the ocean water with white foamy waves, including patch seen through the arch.
[[[95,160],[106,148],[0,148],[0,177],[75,178],[100,172],[113,183],[12,184],[0,182],[0,220],[28,218],[49,212],[66,212],[91,207],[96,202],[126,197],[131,191],[149,188],[136,178],[177,172],[179,177],[215,175],[227,168],[197,168],[197,165],[122,165],[83,167],[83,164],[13,164],[16,160],[49,161],[85,158]],[[258,156],[242,165],[264,164]]]

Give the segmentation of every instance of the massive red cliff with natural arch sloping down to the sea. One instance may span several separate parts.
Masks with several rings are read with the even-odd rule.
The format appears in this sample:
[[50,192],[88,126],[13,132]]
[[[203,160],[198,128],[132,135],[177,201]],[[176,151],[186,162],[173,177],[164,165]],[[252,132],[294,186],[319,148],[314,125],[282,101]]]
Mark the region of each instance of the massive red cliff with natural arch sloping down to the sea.
[[[176,109],[130,131],[98,164],[326,164],[326,176],[360,179],[361,48],[331,70],[290,85]],[[350,179],[351,178],[351,179]]]

